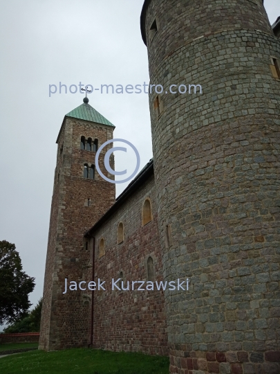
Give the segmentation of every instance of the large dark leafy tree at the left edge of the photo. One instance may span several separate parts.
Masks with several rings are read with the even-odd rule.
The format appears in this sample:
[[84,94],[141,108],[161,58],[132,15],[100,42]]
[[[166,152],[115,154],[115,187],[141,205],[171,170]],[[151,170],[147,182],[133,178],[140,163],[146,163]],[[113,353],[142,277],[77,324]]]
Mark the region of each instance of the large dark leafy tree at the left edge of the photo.
[[34,290],[35,278],[22,271],[15,244],[0,241],[0,324],[11,323],[28,315],[28,294]]

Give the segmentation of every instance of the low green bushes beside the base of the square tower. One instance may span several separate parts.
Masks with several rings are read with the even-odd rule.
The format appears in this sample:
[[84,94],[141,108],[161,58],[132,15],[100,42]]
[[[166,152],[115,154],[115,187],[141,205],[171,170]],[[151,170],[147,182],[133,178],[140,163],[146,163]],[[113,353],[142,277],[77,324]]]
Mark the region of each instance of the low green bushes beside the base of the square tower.
[[27,317],[18,319],[10,326],[4,328],[3,332],[6,334],[15,334],[16,332],[39,332],[42,300],[42,298],[39,299],[37,305],[31,310]]

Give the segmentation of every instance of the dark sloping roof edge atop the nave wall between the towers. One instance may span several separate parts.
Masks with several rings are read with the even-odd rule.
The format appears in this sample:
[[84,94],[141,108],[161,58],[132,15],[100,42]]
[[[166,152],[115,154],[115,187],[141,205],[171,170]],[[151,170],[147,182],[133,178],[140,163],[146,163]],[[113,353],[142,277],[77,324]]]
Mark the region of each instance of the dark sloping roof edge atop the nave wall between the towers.
[[102,217],[100,218],[99,221],[97,221],[91,229],[86,231],[84,236],[91,236],[92,233],[100,227],[111,215],[118,210],[118,208],[123,204],[123,202],[131,196],[142,184],[144,181],[146,181],[151,175],[153,175],[153,159],[150,159],[150,161],[147,163],[144,168],[136,175],[136,177],[131,181],[131,183],[125,188],[124,191],[115,199],[115,204],[109,208],[108,211]]

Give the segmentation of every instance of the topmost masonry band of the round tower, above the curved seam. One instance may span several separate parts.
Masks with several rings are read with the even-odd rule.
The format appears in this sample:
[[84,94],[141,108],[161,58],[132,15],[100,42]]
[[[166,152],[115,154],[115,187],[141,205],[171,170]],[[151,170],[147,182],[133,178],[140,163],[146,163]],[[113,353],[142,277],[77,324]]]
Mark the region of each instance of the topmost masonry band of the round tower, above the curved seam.
[[[207,37],[213,33],[241,28],[245,30],[257,28],[273,35],[262,0],[183,0],[175,3],[173,0],[160,2],[146,0],[145,2],[149,3],[146,36],[150,77],[167,56],[203,35]],[[158,33],[150,40],[149,28],[155,19]]]

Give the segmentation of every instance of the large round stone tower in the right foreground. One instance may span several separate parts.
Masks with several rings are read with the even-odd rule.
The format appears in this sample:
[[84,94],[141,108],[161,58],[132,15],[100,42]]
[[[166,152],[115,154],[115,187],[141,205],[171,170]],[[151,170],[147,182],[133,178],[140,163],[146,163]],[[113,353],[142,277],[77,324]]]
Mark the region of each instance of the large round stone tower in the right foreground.
[[263,0],[146,0],[141,29],[165,281],[190,280],[170,373],[279,373],[279,39]]

